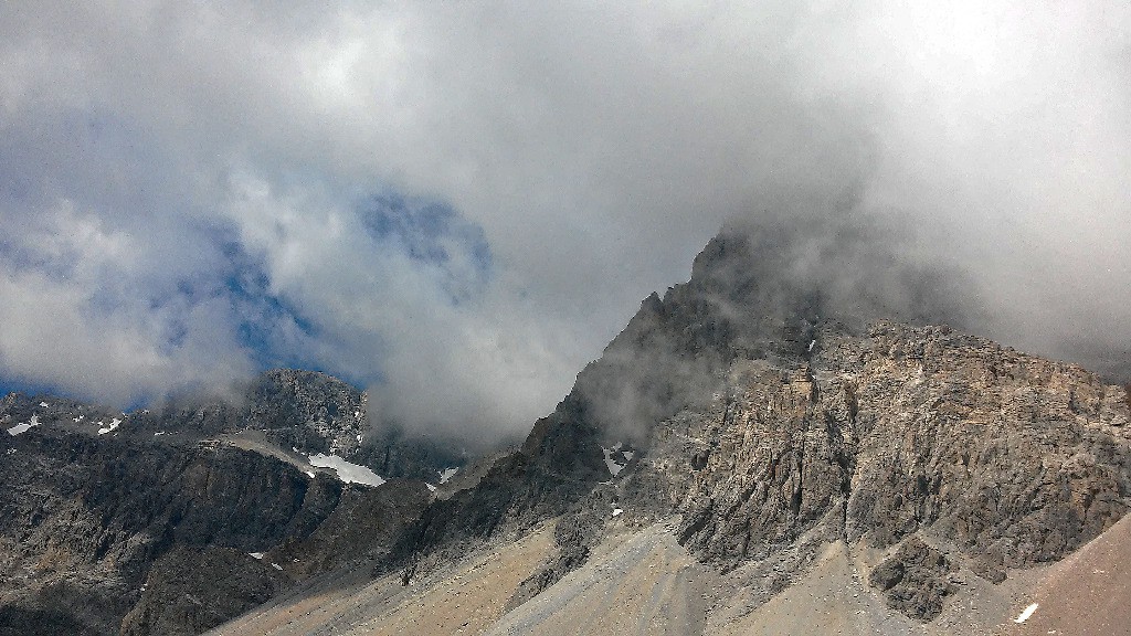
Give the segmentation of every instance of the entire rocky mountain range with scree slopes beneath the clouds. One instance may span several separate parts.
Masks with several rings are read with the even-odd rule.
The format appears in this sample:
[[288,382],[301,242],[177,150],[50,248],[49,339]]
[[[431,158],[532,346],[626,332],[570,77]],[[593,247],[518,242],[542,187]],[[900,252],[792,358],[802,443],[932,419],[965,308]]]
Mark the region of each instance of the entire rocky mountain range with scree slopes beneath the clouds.
[[[1131,390],[965,333],[952,273],[819,230],[724,231],[519,447],[443,484],[459,457],[363,432],[363,395],[326,376],[129,418],[9,396],[5,427],[38,426],[0,469],[0,631],[1079,625],[1077,581],[1131,582],[1102,567],[1126,550]],[[319,453],[405,479],[310,478]]]

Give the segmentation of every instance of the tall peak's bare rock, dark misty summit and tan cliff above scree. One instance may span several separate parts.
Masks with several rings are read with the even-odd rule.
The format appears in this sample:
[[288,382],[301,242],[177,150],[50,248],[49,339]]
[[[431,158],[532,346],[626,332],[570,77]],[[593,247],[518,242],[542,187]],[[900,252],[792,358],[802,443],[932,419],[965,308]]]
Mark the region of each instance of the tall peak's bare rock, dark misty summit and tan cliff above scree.
[[622,523],[679,515],[684,547],[723,571],[754,567],[766,598],[813,541],[890,552],[873,586],[930,620],[952,569],[1001,581],[1125,514],[1125,387],[947,326],[872,320],[944,321],[957,301],[914,269],[830,291],[803,248],[774,233],[711,241],[521,449],[425,513],[402,544],[406,578],[446,545],[564,515],[559,557],[516,604],[585,562],[616,507]]

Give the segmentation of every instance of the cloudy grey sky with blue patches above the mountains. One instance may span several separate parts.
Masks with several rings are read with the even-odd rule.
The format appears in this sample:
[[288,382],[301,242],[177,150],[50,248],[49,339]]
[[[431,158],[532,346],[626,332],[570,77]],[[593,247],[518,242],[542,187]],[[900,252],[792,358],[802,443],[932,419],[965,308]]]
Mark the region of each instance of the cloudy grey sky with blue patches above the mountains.
[[519,432],[728,220],[846,214],[1116,368],[1129,7],[5,2],[0,384],[292,366]]

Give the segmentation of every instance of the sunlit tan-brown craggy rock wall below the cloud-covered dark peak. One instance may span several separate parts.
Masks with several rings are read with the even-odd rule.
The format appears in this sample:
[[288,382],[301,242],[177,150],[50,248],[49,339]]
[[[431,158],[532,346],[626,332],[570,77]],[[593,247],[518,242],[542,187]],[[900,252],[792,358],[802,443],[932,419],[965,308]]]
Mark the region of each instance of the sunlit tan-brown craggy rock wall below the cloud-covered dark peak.
[[[677,484],[680,539],[701,558],[736,567],[835,519],[878,549],[935,538],[1000,581],[1126,513],[1122,387],[947,327],[821,344],[794,369],[736,363],[714,407],[658,426],[634,479]],[[906,586],[892,594],[918,598]],[[893,607],[930,618],[939,602]]]

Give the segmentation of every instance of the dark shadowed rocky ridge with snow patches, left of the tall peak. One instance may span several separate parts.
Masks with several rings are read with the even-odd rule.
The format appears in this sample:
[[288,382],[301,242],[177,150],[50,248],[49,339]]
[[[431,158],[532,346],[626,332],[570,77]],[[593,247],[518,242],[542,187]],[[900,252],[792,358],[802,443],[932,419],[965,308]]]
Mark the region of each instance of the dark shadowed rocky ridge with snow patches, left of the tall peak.
[[[129,415],[5,397],[0,634],[196,634],[295,579],[383,557],[431,499],[424,483],[370,496],[300,459],[379,454],[395,457],[378,464],[389,478],[434,481],[455,454],[390,433],[363,446],[364,406],[345,383],[292,370],[264,375],[243,402],[180,398]],[[260,441],[231,441],[250,433]]]

